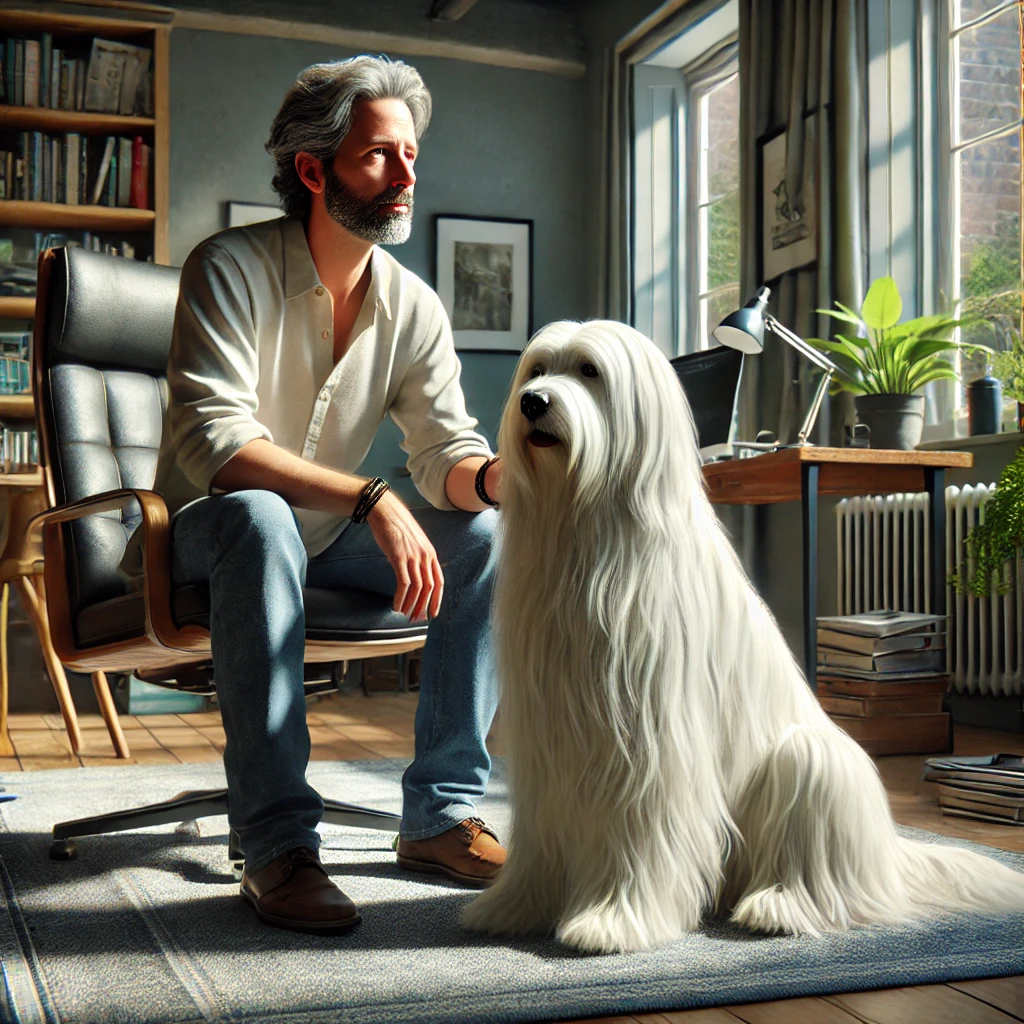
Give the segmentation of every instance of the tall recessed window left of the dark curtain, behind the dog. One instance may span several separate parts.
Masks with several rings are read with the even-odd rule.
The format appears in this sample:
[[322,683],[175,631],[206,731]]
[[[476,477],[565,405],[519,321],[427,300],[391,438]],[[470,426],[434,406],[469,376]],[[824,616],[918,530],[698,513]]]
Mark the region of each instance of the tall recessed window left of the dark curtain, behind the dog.
[[670,357],[739,305],[737,28],[728,0],[633,69],[634,323]]

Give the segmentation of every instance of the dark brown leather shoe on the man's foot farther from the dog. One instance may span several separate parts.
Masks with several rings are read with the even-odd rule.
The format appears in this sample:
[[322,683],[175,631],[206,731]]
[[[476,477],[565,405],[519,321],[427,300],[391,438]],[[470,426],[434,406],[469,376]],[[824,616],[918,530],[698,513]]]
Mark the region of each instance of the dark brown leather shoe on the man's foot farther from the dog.
[[304,846],[242,873],[242,898],[261,921],[297,932],[342,932],[359,923],[355,904],[328,878],[319,857]]

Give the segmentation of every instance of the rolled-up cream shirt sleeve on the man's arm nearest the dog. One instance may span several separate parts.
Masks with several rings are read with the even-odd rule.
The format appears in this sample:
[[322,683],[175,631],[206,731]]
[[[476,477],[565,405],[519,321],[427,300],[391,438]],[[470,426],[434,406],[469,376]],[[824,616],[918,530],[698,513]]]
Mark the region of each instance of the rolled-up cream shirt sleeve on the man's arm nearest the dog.
[[492,452],[474,429],[477,421],[466,412],[462,368],[444,308],[436,297],[428,308],[422,341],[389,412],[402,432],[401,449],[416,489],[435,508],[453,511],[444,493],[449,470],[463,459]]

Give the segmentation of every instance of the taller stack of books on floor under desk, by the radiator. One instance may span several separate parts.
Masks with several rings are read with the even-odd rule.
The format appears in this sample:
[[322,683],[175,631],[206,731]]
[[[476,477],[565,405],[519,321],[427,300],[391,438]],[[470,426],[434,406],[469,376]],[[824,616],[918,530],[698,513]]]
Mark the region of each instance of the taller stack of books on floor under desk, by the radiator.
[[949,751],[945,641],[943,615],[819,616],[818,702],[868,754]]

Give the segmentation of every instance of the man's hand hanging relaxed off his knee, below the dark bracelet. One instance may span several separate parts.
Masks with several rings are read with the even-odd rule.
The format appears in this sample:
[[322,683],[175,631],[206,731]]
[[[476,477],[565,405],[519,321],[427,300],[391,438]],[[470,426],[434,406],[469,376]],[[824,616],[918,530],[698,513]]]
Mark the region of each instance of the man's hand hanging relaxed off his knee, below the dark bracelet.
[[444,593],[444,575],[434,546],[412,512],[387,490],[370,510],[367,523],[394,569],[394,610],[414,623],[428,614],[435,618]]

